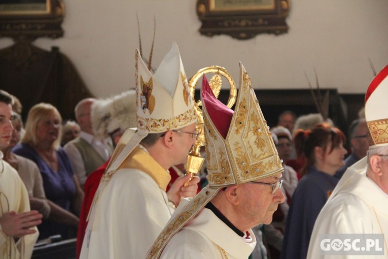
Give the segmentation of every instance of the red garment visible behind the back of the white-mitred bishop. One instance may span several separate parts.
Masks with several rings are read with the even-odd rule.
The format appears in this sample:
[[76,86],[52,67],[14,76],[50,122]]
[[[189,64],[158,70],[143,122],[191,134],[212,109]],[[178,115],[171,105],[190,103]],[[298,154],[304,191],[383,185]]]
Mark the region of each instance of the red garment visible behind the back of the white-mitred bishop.
[[88,225],[88,221],[86,221],[86,219],[89,214],[90,206],[92,205],[94,194],[98,189],[98,185],[100,183],[102,175],[104,174],[105,169],[107,169],[107,166],[110,160],[111,158],[109,158],[108,161],[105,162],[105,164],[97,168],[96,171],[91,173],[86,179],[85,187],[84,187],[85,196],[84,196],[84,201],[82,203],[82,208],[81,208],[80,222],[78,224],[77,243],[76,243],[77,259],[80,258],[80,254],[81,254],[82,242],[84,240],[86,226]]

